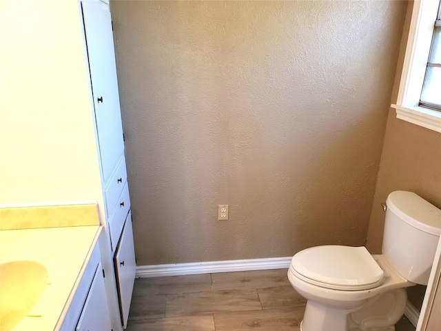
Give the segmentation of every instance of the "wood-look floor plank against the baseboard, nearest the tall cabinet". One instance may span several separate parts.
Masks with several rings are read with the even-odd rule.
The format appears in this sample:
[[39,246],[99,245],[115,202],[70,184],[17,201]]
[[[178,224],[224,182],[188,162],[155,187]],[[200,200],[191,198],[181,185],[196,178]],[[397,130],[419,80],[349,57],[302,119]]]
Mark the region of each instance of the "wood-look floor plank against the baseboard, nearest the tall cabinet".
[[203,292],[211,290],[211,287],[212,277],[210,274],[137,278],[134,283],[133,295]]

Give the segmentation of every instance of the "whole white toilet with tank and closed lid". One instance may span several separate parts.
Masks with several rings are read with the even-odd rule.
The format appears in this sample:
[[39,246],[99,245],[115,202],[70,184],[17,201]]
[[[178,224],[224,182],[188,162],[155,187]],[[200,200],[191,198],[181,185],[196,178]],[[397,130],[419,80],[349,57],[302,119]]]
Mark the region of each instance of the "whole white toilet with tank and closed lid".
[[417,194],[386,201],[382,254],[322,245],[291,259],[288,279],[307,299],[302,331],[393,331],[407,304],[405,288],[427,285],[440,239],[441,210]]

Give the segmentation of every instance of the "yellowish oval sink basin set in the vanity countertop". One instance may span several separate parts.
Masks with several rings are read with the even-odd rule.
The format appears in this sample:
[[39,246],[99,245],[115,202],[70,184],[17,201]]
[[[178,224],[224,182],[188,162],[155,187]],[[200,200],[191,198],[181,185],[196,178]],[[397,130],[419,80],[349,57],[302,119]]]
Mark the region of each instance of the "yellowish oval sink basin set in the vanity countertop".
[[14,328],[39,300],[48,270],[34,261],[0,264],[0,331]]

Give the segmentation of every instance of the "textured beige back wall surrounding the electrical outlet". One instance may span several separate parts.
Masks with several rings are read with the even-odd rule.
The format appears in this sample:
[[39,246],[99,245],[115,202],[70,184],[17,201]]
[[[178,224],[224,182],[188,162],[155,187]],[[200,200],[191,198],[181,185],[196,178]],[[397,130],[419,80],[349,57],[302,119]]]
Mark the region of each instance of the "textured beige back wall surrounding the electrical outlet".
[[138,264],[363,245],[406,8],[111,1]]

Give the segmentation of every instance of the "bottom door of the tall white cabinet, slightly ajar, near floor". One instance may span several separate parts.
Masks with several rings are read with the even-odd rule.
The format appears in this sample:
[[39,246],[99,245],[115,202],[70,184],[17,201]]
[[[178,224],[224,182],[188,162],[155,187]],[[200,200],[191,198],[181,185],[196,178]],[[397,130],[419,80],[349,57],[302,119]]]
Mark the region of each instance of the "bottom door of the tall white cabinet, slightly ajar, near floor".
[[129,212],[116,254],[114,257],[116,279],[119,290],[119,307],[124,328],[129,317],[130,301],[132,300],[135,281],[136,262],[133,243],[132,213]]

